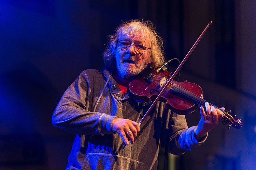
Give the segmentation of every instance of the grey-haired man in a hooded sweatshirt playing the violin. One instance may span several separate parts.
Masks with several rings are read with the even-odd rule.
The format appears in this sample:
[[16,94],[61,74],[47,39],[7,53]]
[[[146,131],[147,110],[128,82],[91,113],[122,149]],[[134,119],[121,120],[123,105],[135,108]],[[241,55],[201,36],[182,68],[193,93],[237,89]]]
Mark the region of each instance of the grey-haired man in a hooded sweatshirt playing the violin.
[[109,38],[104,68],[83,71],[65,91],[52,122],[76,134],[66,169],[157,169],[159,147],[181,155],[206,140],[223,116],[208,103],[197,126],[163,102],[138,124],[150,104],[134,99],[128,83],[164,64],[162,44],[152,22],[124,22]]

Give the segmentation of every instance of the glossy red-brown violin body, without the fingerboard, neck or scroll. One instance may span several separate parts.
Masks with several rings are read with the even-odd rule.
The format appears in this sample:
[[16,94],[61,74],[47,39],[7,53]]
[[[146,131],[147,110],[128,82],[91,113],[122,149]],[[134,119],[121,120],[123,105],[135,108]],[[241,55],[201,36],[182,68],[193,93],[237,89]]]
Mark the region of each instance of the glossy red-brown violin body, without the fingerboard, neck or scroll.
[[[148,80],[147,77],[137,77],[136,79],[132,79],[129,83],[129,90],[134,95],[134,98],[149,101],[151,103],[156,99],[161,91],[159,83],[162,78],[170,79],[170,72],[159,72],[157,73],[157,78],[153,78],[151,80]],[[201,87],[195,83],[189,83],[186,80],[184,82],[177,82],[173,80],[172,83],[192,92],[200,98],[203,98]],[[172,89],[172,86],[173,84],[169,85],[160,97],[159,101],[166,103],[168,109],[171,109],[179,115],[187,115],[194,112],[198,108],[198,104],[184,99],[184,97],[177,94],[177,92]]]

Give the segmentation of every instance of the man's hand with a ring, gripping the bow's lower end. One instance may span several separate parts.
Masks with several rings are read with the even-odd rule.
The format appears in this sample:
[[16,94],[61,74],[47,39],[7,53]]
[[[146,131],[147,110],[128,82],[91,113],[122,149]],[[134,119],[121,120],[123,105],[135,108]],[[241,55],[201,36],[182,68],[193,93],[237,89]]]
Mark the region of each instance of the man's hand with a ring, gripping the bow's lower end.
[[[140,132],[139,123],[129,119],[121,119],[116,117],[113,119],[111,127],[113,132],[118,133],[121,136],[126,145],[129,145],[126,135],[131,140],[131,144],[134,144],[134,138]],[[127,132],[129,133],[127,134]]]

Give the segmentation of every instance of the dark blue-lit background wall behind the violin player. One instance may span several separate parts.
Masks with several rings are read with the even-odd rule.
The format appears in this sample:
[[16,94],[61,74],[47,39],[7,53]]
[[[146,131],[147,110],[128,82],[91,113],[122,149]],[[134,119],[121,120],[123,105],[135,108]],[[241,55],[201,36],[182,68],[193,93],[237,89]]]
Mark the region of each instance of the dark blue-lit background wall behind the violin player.
[[[153,21],[167,59],[180,60],[213,20],[180,81],[199,84],[205,99],[230,108],[244,126],[218,125],[200,148],[176,157],[176,169],[253,169],[255,5],[253,0],[0,0],[0,169],[65,169],[74,134],[55,128],[52,113],[80,72],[102,68],[108,35],[127,19]],[[188,125],[199,119],[199,111],[188,115]]]

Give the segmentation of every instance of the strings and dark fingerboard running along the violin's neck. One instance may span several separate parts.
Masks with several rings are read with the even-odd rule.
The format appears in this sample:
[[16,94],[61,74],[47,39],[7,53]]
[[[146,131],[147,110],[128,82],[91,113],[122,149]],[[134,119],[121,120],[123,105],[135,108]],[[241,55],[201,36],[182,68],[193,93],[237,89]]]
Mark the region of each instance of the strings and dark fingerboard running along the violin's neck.
[[[162,79],[162,77],[160,77],[160,76],[155,76],[155,77],[156,77],[156,80],[159,80],[159,81],[161,81],[161,79]],[[152,80],[153,80],[153,79],[152,79]],[[166,79],[166,80],[169,81],[169,79]],[[160,83],[160,82],[158,82],[158,81],[154,81],[154,82]],[[167,82],[165,82],[164,84],[166,84],[166,83],[167,83]],[[177,89],[177,90],[179,90],[178,92],[182,92],[183,95],[185,95],[187,98],[189,98],[189,99],[191,99],[191,100],[193,100],[193,101],[197,101],[198,104],[200,104],[200,105],[202,105],[202,106],[204,106],[204,103],[207,102],[206,100],[204,100],[204,99],[198,97],[197,95],[195,95],[195,94],[193,94],[192,92],[190,92],[190,91],[184,89],[183,87],[177,85],[176,83],[171,82],[170,85],[172,85],[171,87],[173,87],[173,88],[170,87],[170,89],[173,89],[173,90],[174,90],[174,89]],[[168,85],[168,87],[169,87],[170,85]],[[215,108],[220,109],[219,107],[217,107],[217,106],[215,106],[215,105],[213,105],[213,104],[211,104],[211,103],[209,103],[209,104],[212,105],[212,106],[214,106]],[[221,110],[221,109],[220,109],[220,110]],[[221,111],[222,111],[222,110],[221,110]],[[224,116],[227,117],[227,114],[226,114],[224,111],[222,111],[222,113],[223,113]]]

